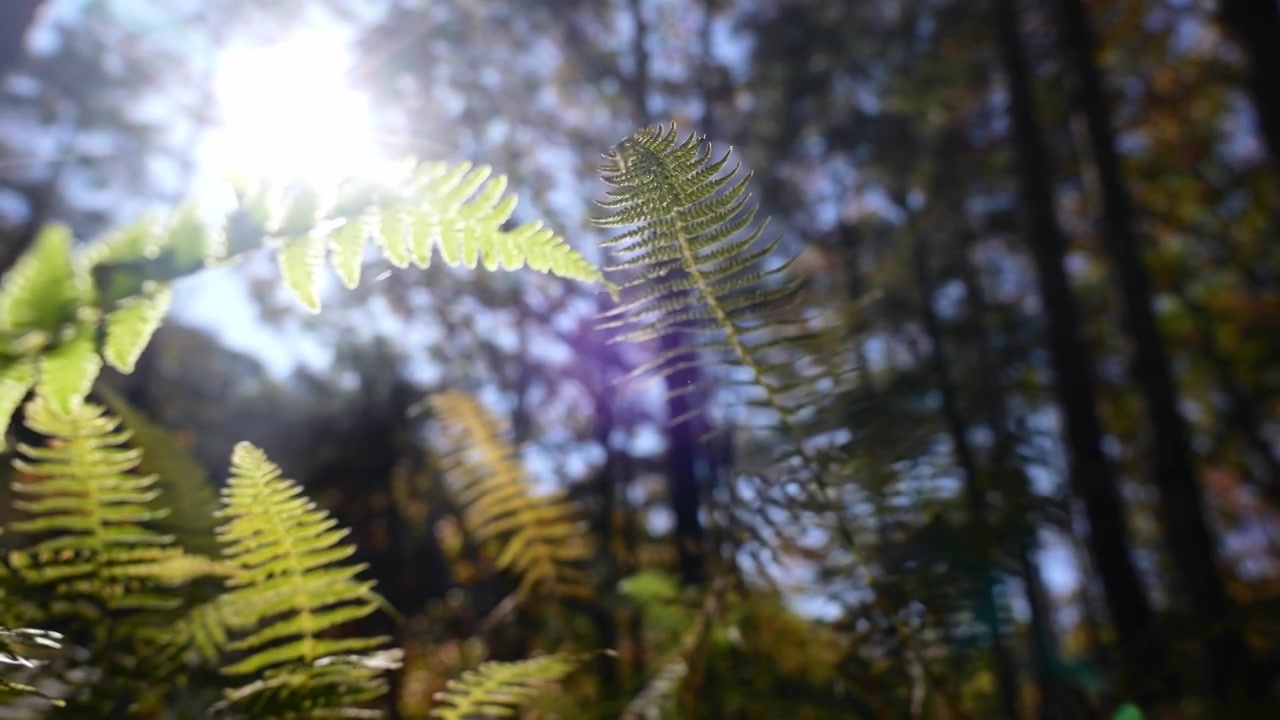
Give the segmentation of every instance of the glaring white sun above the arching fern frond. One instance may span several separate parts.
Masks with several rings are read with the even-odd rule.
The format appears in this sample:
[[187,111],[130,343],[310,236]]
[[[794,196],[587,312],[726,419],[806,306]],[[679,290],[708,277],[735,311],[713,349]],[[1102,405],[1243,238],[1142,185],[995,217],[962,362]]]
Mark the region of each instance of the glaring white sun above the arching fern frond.
[[205,169],[221,177],[335,186],[387,165],[366,97],[352,87],[340,31],[224,50]]

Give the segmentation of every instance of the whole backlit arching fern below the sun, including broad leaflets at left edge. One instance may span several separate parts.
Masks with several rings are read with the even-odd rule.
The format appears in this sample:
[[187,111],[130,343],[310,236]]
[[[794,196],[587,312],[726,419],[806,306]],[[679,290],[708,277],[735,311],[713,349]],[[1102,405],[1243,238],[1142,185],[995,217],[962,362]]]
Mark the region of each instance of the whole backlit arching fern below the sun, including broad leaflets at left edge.
[[285,287],[320,309],[328,258],[347,287],[360,282],[370,240],[397,268],[530,268],[611,283],[562,237],[531,222],[504,229],[516,208],[504,176],[470,163],[406,165],[381,184],[248,187],[237,206],[184,205],[147,215],[74,251],[67,225],[50,224],[0,278],[0,425],[33,387],[69,413],[104,361],[131,373],[172,301],[172,281],[248,251],[276,254]]

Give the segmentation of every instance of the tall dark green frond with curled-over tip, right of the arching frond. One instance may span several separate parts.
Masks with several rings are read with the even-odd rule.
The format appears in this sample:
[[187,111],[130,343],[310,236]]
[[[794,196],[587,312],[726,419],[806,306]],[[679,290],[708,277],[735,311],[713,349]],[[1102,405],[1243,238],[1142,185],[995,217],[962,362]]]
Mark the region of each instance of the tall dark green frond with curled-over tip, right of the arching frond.
[[620,275],[623,292],[600,324],[620,331],[613,342],[663,341],[632,375],[667,375],[718,354],[748,370],[767,407],[794,414],[809,378],[796,377],[794,357],[771,352],[813,333],[782,316],[801,283],[787,275],[794,256],[769,266],[781,236],[765,238],[768,220],[755,220],[750,173],[730,167],[730,152],[714,158],[700,135],[678,141],[675,126],[637,132],[605,161],[612,190],[599,205],[608,214],[594,222],[622,231],[602,246],[617,258],[605,274]]

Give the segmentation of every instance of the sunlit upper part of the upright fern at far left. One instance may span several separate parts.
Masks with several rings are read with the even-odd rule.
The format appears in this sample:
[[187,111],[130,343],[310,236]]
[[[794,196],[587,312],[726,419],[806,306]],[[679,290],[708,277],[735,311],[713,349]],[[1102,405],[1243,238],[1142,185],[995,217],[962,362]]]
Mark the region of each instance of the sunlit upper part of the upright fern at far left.
[[27,404],[26,416],[31,429],[52,442],[20,445],[14,460],[33,479],[14,486],[26,498],[14,506],[26,518],[10,528],[44,538],[10,553],[15,574],[32,585],[55,587],[65,601],[87,601],[78,607],[175,607],[175,596],[150,588],[209,574],[211,566],[197,566],[170,547],[170,536],[150,527],[160,515],[151,506],[156,477],[133,473],[140,452],[123,447],[129,433],[119,429],[120,421],[92,404],[63,414],[41,397]]

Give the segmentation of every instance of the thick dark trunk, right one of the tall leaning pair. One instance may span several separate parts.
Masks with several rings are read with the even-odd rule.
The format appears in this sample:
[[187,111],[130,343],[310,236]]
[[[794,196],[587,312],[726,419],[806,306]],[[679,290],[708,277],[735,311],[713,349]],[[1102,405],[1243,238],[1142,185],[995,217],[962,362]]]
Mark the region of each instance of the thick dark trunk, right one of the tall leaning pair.
[[[1267,4],[1274,14],[1275,0],[1267,0]],[[1206,628],[1202,660],[1213,697],[1225,700],[1235,692],[1251,693],[1254,688],[1261,689],[1258,671],[1248,644],[1234,629],[1231,603],[1219,574],[1217,542],[1206,518],[1204,493],[1196,474],[1187,423],[1178,409],[1179,395],[1170,370],[1169,350],[1151,307],[1151,278],[1143,264],[1133,201],[1124,183],[1111,129],[1110,101],[1094,59],[1097,38],[1093,23],[1080,0],[1060,0],[1059,9],[1061,40],[1076,76],[1076,91],[1102,196],[1102,237],[1115,269],[1124,325],[1133,341],[1130,370],[1142,393],[1151,430],[1148,466],[1160,491],[1166,543],[1181,580],[1179,594],[1188,600],[1189,610]],[[1275,51],[1280,53],[1280,46]],[[1280,83],[1280,76],[1271,77],[1270,83]]]

